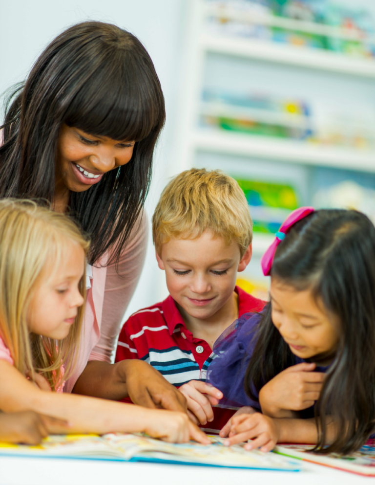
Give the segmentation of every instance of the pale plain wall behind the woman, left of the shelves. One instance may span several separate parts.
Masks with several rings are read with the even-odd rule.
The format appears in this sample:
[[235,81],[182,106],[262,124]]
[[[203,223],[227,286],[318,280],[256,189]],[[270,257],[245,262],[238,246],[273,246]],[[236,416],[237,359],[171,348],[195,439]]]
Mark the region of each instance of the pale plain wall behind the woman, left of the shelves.
[[[84,20],[111,22],[145,45],[166,98],[167,122],[155,155],[146,212],[149,219],[170,174],[186,0],[0,0],[0,93],[22,81],[42,49],[66,27]],[[1,111],[0,123],[3,119]],[[151,239],[146,264],[127,315],[167,296]]]

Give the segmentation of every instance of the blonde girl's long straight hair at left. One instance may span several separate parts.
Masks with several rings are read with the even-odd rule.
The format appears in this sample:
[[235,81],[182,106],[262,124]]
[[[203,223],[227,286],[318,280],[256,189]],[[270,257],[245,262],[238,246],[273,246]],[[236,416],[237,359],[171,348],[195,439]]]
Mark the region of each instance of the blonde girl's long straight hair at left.
[[[68,217],[31,200],[0,200],[0,335],[23,375],[41,373],[56,390],[75,364],[83,307],[63,340],[30,333],[27,317],[36,287],[51,277],[67,256],[69,244],[87,254],[89,243]],[[85,297],[85,277],[80,282]]]

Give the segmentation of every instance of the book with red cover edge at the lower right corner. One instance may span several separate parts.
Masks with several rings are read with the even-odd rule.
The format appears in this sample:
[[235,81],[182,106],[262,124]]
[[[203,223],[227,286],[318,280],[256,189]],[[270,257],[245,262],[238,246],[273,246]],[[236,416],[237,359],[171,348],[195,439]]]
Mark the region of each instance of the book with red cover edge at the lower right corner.
[[344,457],[334,453],[329,455],[310,453],[309,450],[311,449],[311,444],[282,444],[277,445],[274,451],[305,462],[318,463],[358,475],[375,477],[375,440],[368,440],[358,451]]

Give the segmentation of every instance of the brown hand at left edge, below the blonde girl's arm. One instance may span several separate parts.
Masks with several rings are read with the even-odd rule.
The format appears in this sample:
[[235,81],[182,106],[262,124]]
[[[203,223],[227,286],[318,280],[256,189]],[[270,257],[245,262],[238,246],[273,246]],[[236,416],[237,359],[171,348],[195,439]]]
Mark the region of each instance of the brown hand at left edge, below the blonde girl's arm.
[[67,433],[69,428],[63,419],[43,416],[34,411],[0,413],[0,441],[38,444],[49,433]]

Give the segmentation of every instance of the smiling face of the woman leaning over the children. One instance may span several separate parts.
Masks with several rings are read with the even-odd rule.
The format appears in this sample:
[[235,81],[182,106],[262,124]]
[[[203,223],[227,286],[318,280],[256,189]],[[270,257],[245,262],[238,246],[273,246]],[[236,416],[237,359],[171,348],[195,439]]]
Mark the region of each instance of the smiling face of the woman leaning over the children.
[[62,125],[56,170],[57,198],[59,193],[68,193],[66,189],[83,192],[98,183],[105,173],[128,163],[134,143]]

